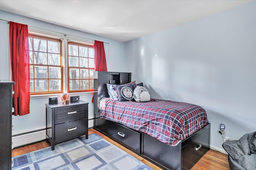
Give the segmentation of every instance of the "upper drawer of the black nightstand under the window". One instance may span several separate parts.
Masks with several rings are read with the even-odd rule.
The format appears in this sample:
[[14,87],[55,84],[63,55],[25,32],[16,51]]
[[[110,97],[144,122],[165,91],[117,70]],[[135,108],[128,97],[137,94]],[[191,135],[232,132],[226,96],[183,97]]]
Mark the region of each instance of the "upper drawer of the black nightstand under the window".
[[86,117],[84,105],[60,107],[55,110],[55,124],[75,121]]

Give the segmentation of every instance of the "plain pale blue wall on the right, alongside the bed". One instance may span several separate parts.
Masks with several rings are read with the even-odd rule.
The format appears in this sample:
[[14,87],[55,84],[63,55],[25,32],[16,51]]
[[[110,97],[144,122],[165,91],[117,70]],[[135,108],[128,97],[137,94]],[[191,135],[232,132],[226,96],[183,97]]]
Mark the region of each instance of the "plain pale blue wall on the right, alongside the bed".
[[126,56],[152,98],[206,109],[211,147],[223,152],[220,123],[231,140],[256,131],[256,2],[129,41]]

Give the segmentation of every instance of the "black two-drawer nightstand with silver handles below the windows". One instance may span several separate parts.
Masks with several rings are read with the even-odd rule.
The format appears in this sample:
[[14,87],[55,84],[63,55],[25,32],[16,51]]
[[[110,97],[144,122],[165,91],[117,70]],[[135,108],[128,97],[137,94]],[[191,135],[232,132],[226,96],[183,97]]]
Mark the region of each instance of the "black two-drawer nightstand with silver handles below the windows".
[[54,145],[86,135],[88,139],[88,102],[46,104],[46,141]]

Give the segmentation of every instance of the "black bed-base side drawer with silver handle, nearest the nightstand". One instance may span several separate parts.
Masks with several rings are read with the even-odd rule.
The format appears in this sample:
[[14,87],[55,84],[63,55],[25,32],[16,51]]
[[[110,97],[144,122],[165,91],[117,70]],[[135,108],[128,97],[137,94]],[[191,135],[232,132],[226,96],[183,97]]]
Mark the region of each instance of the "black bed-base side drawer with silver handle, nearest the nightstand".
[[107,134],[113,140],[140,154],[140,133],[118,123],[108,121]]

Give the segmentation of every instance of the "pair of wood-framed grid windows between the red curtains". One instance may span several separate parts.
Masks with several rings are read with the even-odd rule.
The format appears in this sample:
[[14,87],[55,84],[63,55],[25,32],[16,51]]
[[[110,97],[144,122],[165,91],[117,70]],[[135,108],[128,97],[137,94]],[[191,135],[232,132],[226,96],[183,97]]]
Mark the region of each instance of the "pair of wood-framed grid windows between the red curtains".
[[[31,95],[94,90],[93,45],[68,42],[64,45],[67,56],[62,57],[62,43],[60,39],[29,34]],[[66,61],[67,67],[63,66],[62,60]],[[67,80],[65,86],[64,79]]]

